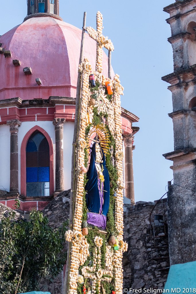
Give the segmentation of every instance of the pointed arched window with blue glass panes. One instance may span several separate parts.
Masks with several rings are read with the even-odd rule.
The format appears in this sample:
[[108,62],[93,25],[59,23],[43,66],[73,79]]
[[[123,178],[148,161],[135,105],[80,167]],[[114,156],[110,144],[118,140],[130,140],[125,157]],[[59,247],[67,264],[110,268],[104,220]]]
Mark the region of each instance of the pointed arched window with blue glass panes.
[[36,131],[26,145],[26,196],[50,195],[50,156],[46,137]]

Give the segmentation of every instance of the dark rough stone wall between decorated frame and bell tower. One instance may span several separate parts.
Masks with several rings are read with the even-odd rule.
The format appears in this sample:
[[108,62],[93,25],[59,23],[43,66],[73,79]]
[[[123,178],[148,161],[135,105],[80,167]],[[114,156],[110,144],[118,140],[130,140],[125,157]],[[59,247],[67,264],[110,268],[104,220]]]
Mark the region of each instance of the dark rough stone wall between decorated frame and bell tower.
[[[156,201],[155,201],[156,203]],[[156,221],[157,226],[150,226],[150,212],[153,202],[137,202],[124,213],[124,239],[128,242],[128,251],[124,253],[124,288],[163,289],[169,270],[168,234],[167,234],[167,199],[158,202],[151,217],[165,217]],[[159,217],[158,217],[159,218]]]

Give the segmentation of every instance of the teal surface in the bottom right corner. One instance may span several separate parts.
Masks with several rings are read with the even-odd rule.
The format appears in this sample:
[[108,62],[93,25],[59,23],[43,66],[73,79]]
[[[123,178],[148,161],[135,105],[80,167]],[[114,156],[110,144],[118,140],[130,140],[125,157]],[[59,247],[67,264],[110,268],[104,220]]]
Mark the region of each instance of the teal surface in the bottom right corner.
[[196,290],[196,261],[172,265],[165,284],[165,290],[167,289],[169,292],[166,293],[194,293]]

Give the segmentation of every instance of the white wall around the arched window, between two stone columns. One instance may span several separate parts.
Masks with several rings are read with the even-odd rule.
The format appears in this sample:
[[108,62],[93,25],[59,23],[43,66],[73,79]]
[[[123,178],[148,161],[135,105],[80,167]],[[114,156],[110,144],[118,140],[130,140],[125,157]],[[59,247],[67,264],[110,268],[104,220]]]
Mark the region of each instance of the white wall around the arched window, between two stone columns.
[[34,126],[43,128],[51,137],[54,151],[54,189],[55,189],[55,130],[52,121],[27,121],[22,122],[19,127],[18,133],[18,146],[19,146],[19,193],[21,192],[21,144],[26,133]]

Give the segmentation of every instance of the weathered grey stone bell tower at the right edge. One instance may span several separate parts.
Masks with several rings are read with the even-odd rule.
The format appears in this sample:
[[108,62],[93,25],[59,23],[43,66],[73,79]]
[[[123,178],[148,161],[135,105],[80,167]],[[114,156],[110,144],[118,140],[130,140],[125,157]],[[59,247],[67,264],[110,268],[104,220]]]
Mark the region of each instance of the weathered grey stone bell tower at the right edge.
[[169,182],[168,229],[170,263],[196,260],[196,0],[179,0],[164,8],[170,14],[174,72],[170,83],[174,151],[163,154],[173,161]]

